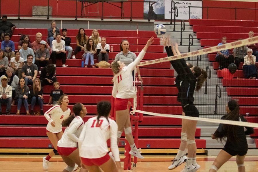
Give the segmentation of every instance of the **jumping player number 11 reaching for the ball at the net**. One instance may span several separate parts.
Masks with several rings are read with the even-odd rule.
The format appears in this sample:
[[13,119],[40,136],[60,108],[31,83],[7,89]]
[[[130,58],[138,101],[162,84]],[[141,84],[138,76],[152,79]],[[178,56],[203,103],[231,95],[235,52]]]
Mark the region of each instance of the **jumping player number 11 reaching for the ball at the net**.
[[[127,67],[123,62],[114,61],[112,63],[112,71],[114,72],[114,86],[112,90],[112,96],[115,97],[114,110],[116,112],[116,123],[118,125],[117,132],[117,144],[119,143],[120,137],[124,130],[126,139],[128,140],[131,150],[130,154],[136,156],[140,159],[144,159],[140,154],[139,150],[136,148],[134,143],[134,138],[132,135],[132,126],[130,120],[130,114],[128,110],[128,100],[129,98],[136,98],[135,87],[133,86],[132,71],[137,66],[137,64],[142,60],[144,54],[146,53],[148,47],[153,43],[153,37],[151,37],[138,57],[130,63]],[[113,151],[113,150],[112,150]]]

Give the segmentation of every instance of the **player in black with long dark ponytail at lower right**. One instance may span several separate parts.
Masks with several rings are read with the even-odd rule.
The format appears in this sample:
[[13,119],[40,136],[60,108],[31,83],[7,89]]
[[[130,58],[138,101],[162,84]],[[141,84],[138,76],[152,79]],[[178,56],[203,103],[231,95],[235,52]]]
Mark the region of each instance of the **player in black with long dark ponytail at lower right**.
[[[239,114],[239,104],[235,100],[230,100],[226,105],[227,114],[222,116],[222,120],[246,121]],[[233,122],[232,122],[233,123]],[[212,135],[212,139],[226,141],[224,148],[220,151],[209,172],[216,172],[230,158],[236,155],[236,164],[239,172],[245,171],[244,159],[248,150],[246,135],[254,133],[253,128],[243,126],[220,124],[218,129]]]

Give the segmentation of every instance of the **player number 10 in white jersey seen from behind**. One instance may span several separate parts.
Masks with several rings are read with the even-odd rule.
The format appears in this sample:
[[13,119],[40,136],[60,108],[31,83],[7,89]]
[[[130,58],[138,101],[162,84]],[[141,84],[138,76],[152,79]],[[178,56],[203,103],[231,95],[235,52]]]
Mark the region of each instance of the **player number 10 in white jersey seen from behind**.
[[[117,124],[108,118],[110,110],[109,101],[99,102],[97,116],[85,123],[79,137],[81,166],[90,172],[101,172],[100,168],[105,172],[122,172],[117,145]],[[116,164],[108,155],[107,140],[109,138]]]

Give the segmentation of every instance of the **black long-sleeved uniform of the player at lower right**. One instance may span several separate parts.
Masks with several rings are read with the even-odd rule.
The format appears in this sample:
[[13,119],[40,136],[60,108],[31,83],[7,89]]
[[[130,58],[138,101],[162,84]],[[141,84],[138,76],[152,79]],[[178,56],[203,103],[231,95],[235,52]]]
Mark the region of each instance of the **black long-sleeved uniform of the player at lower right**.
[[[221,117],[222,120],[226,119],[226,115]],[[246,121],[243,116],[239,117],[239,121]],[[220,124],[218,129],[215,131],[215,133],[222,133],[226,135],[223,126],[225,124]],[[238,138],[238,141],[235,142],[229,142],[228,140],[226,141],[226,144],[222,150],[225,150],[227,153],[229,153],[232,156],[239,155],[239,156],[244,156],[247,153],[248,146],[247,146],[247,140],[246,140],[246,135],[250,135],[254,133],[254,130],[252,127],[245,127],[247,130],[244,131],[243,126],[237,126],[237,131],[236,131],[236,136]],[[233,134],[233,133],[232,133]]]

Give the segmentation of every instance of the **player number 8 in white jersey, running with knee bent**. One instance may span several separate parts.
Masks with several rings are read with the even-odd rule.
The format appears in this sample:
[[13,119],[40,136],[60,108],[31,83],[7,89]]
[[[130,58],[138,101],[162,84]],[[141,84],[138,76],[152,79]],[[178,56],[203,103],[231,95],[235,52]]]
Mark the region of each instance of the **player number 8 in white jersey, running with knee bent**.
[[[68,96],[63,94],[56,106],[51,107],[44,116],[48,120],[48,125],[46,127],[46,134],[54,146],[54,149],[48,154],[48,156],[43,157],[43,168],[48,169],[48,163],[51,157],[57,153],[57,142],[61,139],[63,135],[62,122],[67,119],[71,113],[71,110],[67,107],[69,103]],[[51,114],[51,117],[49,116]]]

